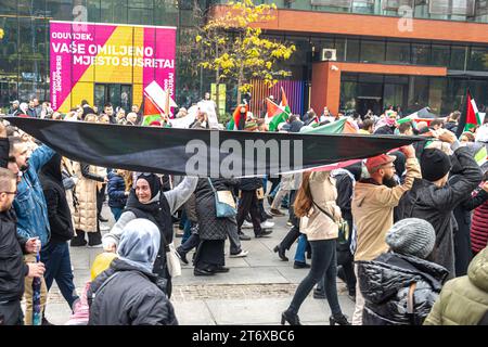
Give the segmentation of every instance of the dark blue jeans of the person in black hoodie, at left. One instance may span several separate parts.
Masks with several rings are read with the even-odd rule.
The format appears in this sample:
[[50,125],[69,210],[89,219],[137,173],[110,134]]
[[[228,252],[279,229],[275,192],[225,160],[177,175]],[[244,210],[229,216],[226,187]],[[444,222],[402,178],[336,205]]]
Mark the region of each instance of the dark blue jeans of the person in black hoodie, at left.
[[72,261],[67,242],[50,242],[41,250],[41,261],[46,266],[44,280],[48,291],[55,280],[61,294],[73,308],[73,303],[78,299],[75,284],[73,283]]

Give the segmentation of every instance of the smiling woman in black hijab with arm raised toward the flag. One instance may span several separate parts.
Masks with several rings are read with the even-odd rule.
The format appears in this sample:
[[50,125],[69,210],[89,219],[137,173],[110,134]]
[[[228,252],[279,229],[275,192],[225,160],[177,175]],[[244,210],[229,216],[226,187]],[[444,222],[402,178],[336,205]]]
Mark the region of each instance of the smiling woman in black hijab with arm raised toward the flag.
[[166,252],[172,242],[172,219],[196,188],[198,179],[187,177],[175,189],[163,192],[160,179],[154,174],[140,174],[136,187],[131,190],[127,205],[120,218],[110,233],[103,235],[103,248],[115,252],[124,234],[124,228],[136,218],[149,219],[157,226],[160,246],[153,267],[153,273],[167,280],[167,295],[171,297],[171,277],[166,264]]

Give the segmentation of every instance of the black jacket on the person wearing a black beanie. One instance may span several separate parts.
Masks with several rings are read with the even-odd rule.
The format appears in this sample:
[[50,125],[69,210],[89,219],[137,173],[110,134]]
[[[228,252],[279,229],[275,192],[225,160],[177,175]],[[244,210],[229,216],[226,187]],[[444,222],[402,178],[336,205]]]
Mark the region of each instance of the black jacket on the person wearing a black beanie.
[[420,218],[434,227],[436,244],[433,261],[449,271],[449,279],[455,273],[453,233],[458,227],[452,211],[483,178],[481,170],[467,147],[458,149],[453,160],[460,164],[459,172],[454,168],[451,170],[451,174],[460,175],[455,183],[439,188],[427,180],[415,179],[412,189],[403,195],[398,205],[400,219]]

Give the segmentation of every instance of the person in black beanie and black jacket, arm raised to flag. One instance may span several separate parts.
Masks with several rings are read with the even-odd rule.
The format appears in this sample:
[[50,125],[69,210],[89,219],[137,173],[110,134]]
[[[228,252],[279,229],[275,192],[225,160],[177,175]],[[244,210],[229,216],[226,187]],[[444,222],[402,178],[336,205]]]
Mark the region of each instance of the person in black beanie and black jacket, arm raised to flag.
[[[459,145],[452,132],[445,130],[442,137],[452,149]],[[481,170],[468,147],[457,149],[451,158],[439,150],[424,150],[421,169],[422,179],[415,179],[412,189],[400,200],[398,217],[431,222],[436,231],[432,259],[444,266],[452,279],[455,275],[453,232],[458,228],[452,211],[479,184]],[[449,171],[459,175],[453,184],[447,184]]]

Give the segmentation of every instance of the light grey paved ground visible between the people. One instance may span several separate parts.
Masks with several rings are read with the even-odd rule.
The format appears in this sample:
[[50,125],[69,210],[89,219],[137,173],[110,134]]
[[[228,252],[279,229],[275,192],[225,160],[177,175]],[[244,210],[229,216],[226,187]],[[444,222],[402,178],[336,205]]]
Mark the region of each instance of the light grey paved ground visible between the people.
[[[114,219],[104,206],[103,215]],[[286,217],[274,217],[274,231],[270,237],[242,241],[243,249],[249,250],[245,258],[229,258],[226,242],[228,273],[213,277],[194,277],[191,265],[182,265],[182,274],[174,279],[171,303],[180,324],[279,324],[281,312],[293,298],[295,288],[309,269],[293,269],[296,243],[286,253],[290,261],[281,261],[273,247],[286,234]],[[176,228],[176,227],[175,227]],[[244,232],[252,235],[249,229]],[[180,237],[175,239],[179,245]],[[78,294],[90,280],[90,267],[102,248],[70,247],[75,285]],[[193,252],[188,255],[191,259]],[[307,259],[310,262],[309,259]],[[337,279],[339,304],[346,316],[352,316],[354,303],[347,297],[346,286]],[[49,293],[47,318],[53,324],[64,324],[70,310],[54,284]],[[299,311],[304,324],[329,324],[331,311],[324,299],[313,299],[311,293]]]

